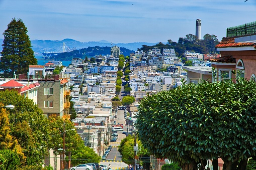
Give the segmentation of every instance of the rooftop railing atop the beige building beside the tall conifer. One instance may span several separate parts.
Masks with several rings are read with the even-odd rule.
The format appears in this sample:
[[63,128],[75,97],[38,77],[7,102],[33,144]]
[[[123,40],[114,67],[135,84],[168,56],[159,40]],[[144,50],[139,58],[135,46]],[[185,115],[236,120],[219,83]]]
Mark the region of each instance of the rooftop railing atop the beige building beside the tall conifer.
[[55,81],[59,80],[59,75],[27,75],[19,74],[18,79],[20,80],[43,80],[43,81]]

